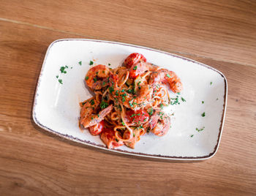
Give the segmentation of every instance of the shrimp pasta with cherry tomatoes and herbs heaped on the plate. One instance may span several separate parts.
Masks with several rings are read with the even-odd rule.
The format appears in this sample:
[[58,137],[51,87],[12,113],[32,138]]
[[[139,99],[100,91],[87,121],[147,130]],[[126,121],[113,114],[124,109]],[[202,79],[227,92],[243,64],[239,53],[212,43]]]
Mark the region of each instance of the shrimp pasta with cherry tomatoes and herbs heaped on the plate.
[[80,102],[80,125],[91,135],[100,135],[108,148],[135,148],[146,132],[167,133],[170,116],[162,110],[171,103],[167,88],[174,93],[182,90],[175,72],[132,53],[121,67],[91,67],[85,80],[95,96]]

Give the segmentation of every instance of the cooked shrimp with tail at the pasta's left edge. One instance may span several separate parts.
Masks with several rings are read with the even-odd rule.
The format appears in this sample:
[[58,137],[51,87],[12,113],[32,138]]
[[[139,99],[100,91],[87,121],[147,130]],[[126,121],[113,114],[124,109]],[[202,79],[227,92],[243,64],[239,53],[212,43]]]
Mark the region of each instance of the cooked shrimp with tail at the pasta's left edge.
[[113,109],[113,105],[109,105],[108,108],[101,110],[97,114],[96,108],[99,105],[99,102],[96,102],[94,97],[86,100],[86,102],[83,102],[82,104],[83,107],[80,111],[80,124],[82,124],[84,128],[99,124],[99,122],[102,121],[104,117],[107,116],[108,113],[110,113],[110,111]]

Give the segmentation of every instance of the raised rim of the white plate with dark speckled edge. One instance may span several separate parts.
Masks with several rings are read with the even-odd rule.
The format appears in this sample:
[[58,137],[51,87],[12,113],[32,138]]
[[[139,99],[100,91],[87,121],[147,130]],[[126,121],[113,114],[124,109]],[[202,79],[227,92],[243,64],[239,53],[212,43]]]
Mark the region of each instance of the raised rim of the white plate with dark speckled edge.
[[[203,157],[177,157],[177,156],[163,156],[163,155],[160,155],[160,154],[143,154],[143,153],[138,153],[138,152],[124,151],[124,150],[121,150],[121,149],[118,149],[118,148],[117,149],[108,149],[105,146],[98,145],[96,143],[91,143],[90,141],[87,141],[87,140],[80,140],[79,138],[73,137],[72,135],[61,134],[61,133],[56,132],[55,130],[50,129],[49,127],[41,124],[40,121],[37,119],[37,116],[36,116],[37,113],[35,111],[35,108],[37,107],[37,97],[39,96],[38,90],[39,90],[39,85],[40,85],[41,80],[42,80],[42,72],[45,69],[45,62],[48,58],[50,48],[52,48],[53,45],[56,44],[56,42],[63,42],[63,41],[104,42],[104,43],[110,43],[110,44],[116,44],[116,45],[126,45],[126,46],[132,46],[132,47],[135,47],[135,48],[142,48],[142,49],[151,50],[151,51],[158,52],[158,53],[164,53],[164,54],[167,54],[169,56],[174,56],[174,57],[177,57],[179,59],[186,60],[186,61],[191,61],[195,64],[199,64],[200,66],[206,67],[208,69],[212,69],[213,71],[219,73],[219,75],[221,75],[222,78],[224,78],[225,94],[224,94],[224,104],[223,104],[223,109],[222,109],[222,120],[221,120],[221,124],[219,126],[219,135],[218,135],[218,139],[217,139],[217,144],[214,147],[214,151],[211,152],[210,154],[206,155],[206,156],[203,156]],[[69,38],[69,39],[56,39],[53,42],[51,42],[50,45],[48,46],[48,49],[45,53],[45,58],[44,58],[43,63],[42,63],[42,67],[41,67],[40,72],[39,72],[39,76],[37,78],[36,90],[35,90],[35,93],[34,93],[32,118],[34,120],[34,123],[37,124],[37,126],[41,127],[42,129],[45,129],[46,131],[48,131],[50,133],[53,133],[54,135],[58,135],[59,137],[64,137],[68,140],[72,140],[72,141],[77,142],[77,143],[82,143],[82,144],[87,145],[87,146],[93,146],[95,148],[101,148],[101,149],[104,149],[104,150],[107,150],[107,151],[113,151],[113,152],[121,153],[121,154],[129,154],[129,155],[138,156],[138,157],[149,157],[149,158],[155,158],[155,159],[170,159],[170,160],[182,160],[182,161],[189,161],[189,160],[193,161],[194,160],[195,161],[195,160],[210,159],[211,157],[214,157],[214,155],[217,153],[217,151],[219,149],[219,143],[220,143],[220,140],[221,140],[221,137],[222,137],[222,131],[223,131],[224,123],[225,123],[226,110],[227,110],[227,78],[225,77],[225,75],[222,72],[220,72],[218,69],[215,69],[214,67],[210,67],[207,64],[200,63],[198,61],[189,59],[189,58],[184,57],[184,56],[179,56],[177,54],[168,53],[168,52],[165,52],[165,51],[162,51],[162,50],[157,50],[157,49],[154,49],[154,48],[148,48],[148,47],[144,47],[144,46],[140,46],[140,45],[132,45],[132,44],[124,43],[124,42],[113,42],[113,41],[101,40],[101,39],[83,39],[83,38],[73,39],[73,38]]]

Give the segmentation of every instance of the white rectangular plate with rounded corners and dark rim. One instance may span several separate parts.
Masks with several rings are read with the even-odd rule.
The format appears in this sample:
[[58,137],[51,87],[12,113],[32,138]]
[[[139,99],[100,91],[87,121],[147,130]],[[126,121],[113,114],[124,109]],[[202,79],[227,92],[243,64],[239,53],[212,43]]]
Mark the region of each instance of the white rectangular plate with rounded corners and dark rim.
[[[84,78],[91,60],[94,59],[94,64],[118,67],[130,53],[142,53],[148,62],[176,72],[184,85],[180,97],[186,102],[180,101],[180,105],[165,109],[169,113],[174,112],[167,135],[146,134],[135,149],[121,146],[108,150],[99,136],[93,136],[87,130],[81,132],[78,127],[79,102],[91,97]],[[66,65],[69,67],[67,74],[61,73],[60,67]],[[208,159],[217,152],[226,105],[225,76],[205,64],[137,45],[92,39],[59,39],[50,44],[45,55],[32,115],[39,127],[78,143],[142,157],[193,160]],[[201,116],[202,113],[206,116]],[[203,131],[197,132],[196,128],[202,127],[205,127]]]

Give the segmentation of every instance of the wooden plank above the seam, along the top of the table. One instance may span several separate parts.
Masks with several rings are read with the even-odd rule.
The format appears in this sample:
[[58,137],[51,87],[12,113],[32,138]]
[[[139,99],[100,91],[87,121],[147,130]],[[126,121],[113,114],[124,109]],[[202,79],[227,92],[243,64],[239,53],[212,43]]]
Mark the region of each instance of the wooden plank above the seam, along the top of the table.
[[256,65],[256,1],[0,0],[0,4],[1,20]]

